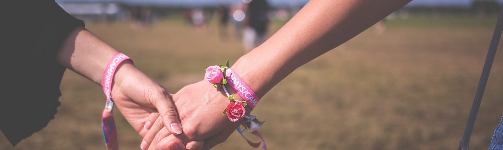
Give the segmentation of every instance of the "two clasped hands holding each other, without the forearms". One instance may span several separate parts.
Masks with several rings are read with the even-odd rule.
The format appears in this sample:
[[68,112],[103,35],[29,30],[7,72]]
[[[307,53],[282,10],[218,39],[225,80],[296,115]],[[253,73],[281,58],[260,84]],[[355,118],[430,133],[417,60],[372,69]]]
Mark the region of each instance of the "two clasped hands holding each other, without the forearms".
[[[140,71],[124,75],[125,79],[114,83],[112,96],[126,120],[143,136],[142,149],[209,149],[225,141],[242,122],[232,122],[222,114],[228,97],[204,80],[171,94]],[[246,109],[249,112],[248,106]]]

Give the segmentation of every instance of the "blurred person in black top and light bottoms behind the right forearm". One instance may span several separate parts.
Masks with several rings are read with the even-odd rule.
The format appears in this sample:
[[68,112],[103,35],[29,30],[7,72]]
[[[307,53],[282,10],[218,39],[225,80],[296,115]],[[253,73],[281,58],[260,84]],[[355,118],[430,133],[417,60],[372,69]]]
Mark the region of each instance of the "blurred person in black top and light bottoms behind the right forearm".
[[245,52],[266,41],[269,28],[269,3],[266,0],[251,0],[246,6],[243,30],[243,46]]

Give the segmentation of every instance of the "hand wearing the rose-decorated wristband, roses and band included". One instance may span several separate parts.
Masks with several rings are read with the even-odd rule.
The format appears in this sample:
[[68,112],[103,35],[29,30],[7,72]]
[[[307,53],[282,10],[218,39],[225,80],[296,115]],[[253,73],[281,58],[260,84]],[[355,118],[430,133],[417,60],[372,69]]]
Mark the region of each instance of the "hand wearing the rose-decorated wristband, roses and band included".
[[[208,75],[210,67],[207,68],[206,75]],[[216,67],[219,71],[220,67]],[[226,75],[222,75],[221,78],[217,77],[217,82],[210,80],[215,78],[210,77],[210,79],[208,79],[208,77],[205,77],[205,80],[187,85],[173,96],[176,101],[175,104],[179,107],[182,124],[184,124],[185,128],[193,130],[186,130],[180,135],[168,136],[170,135],[170,132],[163,128],[161,122],[156,121],[152,128],[150,128],[148,133],[144,136],[142,143],[145,142],[149,144],[150,146],[148,149],[200,149],[201,147],[199,145],[193,145],[192,143],[184,145],[183,143],[185,143],[184,141],[189,140],[204,140],[204,146],[202,148],[209,149],[216,144],[223,142],[236,129],[236,127],[241,125],[243,122],[246,122],[247,118],[245,117],[250,116],[251,108],[254,107],[259,100],[259,97],[253,92],[253,90],[251,90],[251,88],[248,87],[244,89],[244,86],[247,85],[239,78],[239,75],[236,72],[234,72],[231,68],[227,68],[226,70]],[[213,86],[211,84],[222,83],[221,81],[223,80],[223,76],[226,78],[226,81],[224,82],[228,82],[228,84],[219,85],[222,87]],[[225,88],[223,88],[224,86]],[[243,90],[240,91],[239,89]],[[201,91],[203,92],[200,93]],[[230,96],[227,96],[226,92],[228,92]],[[242,93],[243,97],[250,97],[250,95],[256,96],[249,98],[248,100],[243,99],[239,93]],[[229,97],[232,97],[232,99],[234,99],[233,101],[245,101],[247,103],[244,106],[244,111],[242,111],[244,113],[240,113],[239,115],[230,115],[229,111],[231,110],[229,110],[229,105],[231,105],[230,103],[233,103],[233,101],[229,103]],[[222,110],[224,109],[227,110],[227,112],[224,112],[226,115],[222,114]],[[198,122],[198,120],[205,121]],[[254,120],[254,118],[250,118],[248,120]],[[197,130],[208,130],[208,132],[194,132]],[[261,136],[257,131],[250,132]],[[167,137],[162,139],[164,136]],[[209,138],[205,139],[199,137]],[[254,147],[262,145],[266,148],[264,141],[254,143],[248,140],[248,143]]]

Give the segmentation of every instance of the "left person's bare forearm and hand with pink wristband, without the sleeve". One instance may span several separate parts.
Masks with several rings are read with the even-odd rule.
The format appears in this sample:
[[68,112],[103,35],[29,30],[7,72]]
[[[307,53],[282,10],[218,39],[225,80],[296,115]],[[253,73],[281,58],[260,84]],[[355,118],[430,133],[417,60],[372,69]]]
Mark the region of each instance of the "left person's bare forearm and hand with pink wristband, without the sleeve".
[[[129,57],[85,28],[76,27],[68,35],[56,58],[63,66],[103,86],[106,96],[101,101],[106,106],[102,125],[107,149],[118,149],[111,111],[114,103],[141,136],[153,123],[148,118],[157,117],[170,133],[182,133],[173,94],[138,70]],[[191,144],[201,145],[202,142]]]

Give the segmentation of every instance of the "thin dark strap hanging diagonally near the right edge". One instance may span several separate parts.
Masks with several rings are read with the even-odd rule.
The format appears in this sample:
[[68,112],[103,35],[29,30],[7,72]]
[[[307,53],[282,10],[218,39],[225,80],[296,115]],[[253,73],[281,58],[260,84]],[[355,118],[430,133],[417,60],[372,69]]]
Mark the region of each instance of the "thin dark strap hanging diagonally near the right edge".
[[473,99],[470,115],[468,116],[468,122],[466,122],[463,139],[459,141],[458,150],[468,150],[468,143],[470,142],[470,136],[473,130],[473,125],[475,124],[475,118],[477,117],[478,108],[480,107],[480,101],[482,100],[482,95],[484,94],[485,84],[487,83],[487,78],[489,78],[492,61],[494,60],[494,55],[496,54],[499,38],[501,37],[501,30],[503,30],[503,9],[499,10],[498,21],[496,22],[496,27],[494,28],[494,33],[492,34],[491,44],[489,45],[489,51],[487,51],[484,68],[482,69],[480,80],[478,81],[477,92],[475,93],[475,98]]

